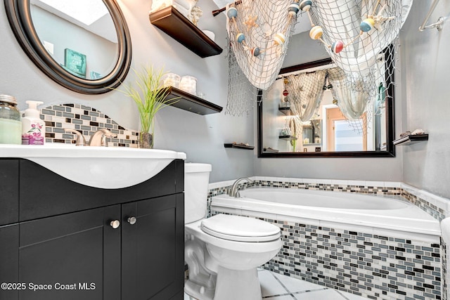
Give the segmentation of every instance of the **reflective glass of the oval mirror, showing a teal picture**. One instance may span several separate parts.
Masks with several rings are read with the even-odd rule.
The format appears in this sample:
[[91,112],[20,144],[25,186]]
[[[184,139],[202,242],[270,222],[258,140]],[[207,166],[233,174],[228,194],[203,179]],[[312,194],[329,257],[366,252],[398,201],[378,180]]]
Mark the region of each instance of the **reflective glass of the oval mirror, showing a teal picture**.
[[113,18],[102,0],[32,0],[39,40],[64,70],[82,79],[101,79],[117,63]]

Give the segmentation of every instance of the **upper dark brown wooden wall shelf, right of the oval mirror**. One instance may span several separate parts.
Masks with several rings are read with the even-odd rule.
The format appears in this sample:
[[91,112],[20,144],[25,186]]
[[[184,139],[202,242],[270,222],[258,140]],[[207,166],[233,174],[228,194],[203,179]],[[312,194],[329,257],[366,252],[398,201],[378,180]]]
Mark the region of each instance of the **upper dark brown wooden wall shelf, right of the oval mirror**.
[[153,25],[201,58],[217,56],[223,51],[219,45],[173,6],[150,13],[149,18]]

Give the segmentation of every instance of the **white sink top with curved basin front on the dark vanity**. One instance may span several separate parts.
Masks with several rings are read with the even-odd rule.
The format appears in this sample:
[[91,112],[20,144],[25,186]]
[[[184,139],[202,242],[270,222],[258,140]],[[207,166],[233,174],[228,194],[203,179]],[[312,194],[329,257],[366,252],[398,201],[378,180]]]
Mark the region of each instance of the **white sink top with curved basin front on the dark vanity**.
[[94,188],[126,188],[152,178],[184,152],[75,145],[0,145],[0,157],[31,160],[71,181]]

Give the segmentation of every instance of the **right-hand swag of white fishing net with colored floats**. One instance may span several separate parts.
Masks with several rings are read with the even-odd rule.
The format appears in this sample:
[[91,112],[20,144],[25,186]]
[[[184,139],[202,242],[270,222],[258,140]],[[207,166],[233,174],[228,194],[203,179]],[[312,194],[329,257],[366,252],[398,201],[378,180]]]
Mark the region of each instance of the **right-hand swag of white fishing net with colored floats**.
[[397,38],[412,0],[304,0],[309,37],[321,41],[347,73],[368,74],[379,53]]

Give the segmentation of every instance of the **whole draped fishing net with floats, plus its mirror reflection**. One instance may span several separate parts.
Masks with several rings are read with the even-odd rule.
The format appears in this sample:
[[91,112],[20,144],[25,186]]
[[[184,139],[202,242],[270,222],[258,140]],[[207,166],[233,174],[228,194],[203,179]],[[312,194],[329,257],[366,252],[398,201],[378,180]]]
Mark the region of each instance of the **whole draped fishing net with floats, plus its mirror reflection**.
[[[238,65],[253,86],[268,89],[281,70],[297,13],[301,13],[311,23],[309,37],[325,46],[337,66],[319,79],[320,84],[328,81],[336,104],[348,120],[359,119],[364,112],[377,111],[392,97],[387,91],[394,84],[397,37],[411,5],[412,0],[242,0],[241,4],[229,4],[227,30],[235,56],[230,66]],[[238,106],[235,94],[241,89],[233,72],[230,67],[230,76],[234,77],[229,81],[229,101],[233,100],[230,110]],[[293,77],[289,82],[294,84],[296,80]],[[302,89],[290,87],[290,96],[285,99],[304,122],[314,115],[313,108],[319,107],[321,93],[307,97],[307,84],[297,86]]]

